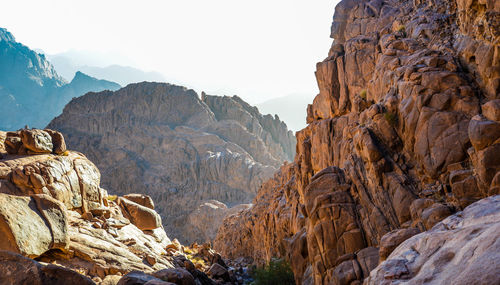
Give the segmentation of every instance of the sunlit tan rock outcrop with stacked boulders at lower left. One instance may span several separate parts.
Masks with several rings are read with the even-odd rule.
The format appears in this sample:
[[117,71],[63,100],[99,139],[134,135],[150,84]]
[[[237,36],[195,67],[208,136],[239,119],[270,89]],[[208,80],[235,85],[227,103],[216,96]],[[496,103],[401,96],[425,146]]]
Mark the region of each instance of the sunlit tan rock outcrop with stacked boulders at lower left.
[[[21,137],[11,149],[9,139]],[[169,239],[151,197],[108,195],[83,154],[57,154],[60,133],[0,132],[0,145],[9,150],[0,148],[0,284],[212,285],[227,277],[211,273],[214,264],[230,269],[208,244]],[[44,152],[30,153],[33,145]]]

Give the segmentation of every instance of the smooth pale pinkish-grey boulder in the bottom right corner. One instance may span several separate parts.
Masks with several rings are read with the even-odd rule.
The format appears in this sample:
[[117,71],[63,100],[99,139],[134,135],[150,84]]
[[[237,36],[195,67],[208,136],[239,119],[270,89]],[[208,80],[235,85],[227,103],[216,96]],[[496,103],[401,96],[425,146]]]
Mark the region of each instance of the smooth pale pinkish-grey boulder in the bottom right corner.
[[499,232],[497,195],[403,242],[365,284],[498,284]]

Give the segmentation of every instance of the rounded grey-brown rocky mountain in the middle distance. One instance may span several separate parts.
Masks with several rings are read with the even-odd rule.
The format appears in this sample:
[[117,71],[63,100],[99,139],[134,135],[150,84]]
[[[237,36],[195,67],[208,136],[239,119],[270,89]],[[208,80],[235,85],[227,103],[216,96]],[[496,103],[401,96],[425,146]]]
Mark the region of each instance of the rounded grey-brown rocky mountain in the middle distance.
[[[163,83],[89,93],[49,126],[96,163],[107,189],[151,196],[168,234],[182,242],[213,239],[231,208],[252,201],[295,149],[283,122],[240,98],[203,93],[200,100]],[[212,200],[217,214],[195,218]]]

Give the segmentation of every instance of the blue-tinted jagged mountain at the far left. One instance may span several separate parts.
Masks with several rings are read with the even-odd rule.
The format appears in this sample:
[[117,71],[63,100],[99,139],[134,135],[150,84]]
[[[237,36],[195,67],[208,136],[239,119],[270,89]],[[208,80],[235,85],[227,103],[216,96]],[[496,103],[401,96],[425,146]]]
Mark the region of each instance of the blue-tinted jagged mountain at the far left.
[[109,81],[76,74],[66,82],[43,54],[16,42],[0,28],[0,129],[14,130],[26,124],[44,127],[59,115],[72,97],[89,91],[116,90]]

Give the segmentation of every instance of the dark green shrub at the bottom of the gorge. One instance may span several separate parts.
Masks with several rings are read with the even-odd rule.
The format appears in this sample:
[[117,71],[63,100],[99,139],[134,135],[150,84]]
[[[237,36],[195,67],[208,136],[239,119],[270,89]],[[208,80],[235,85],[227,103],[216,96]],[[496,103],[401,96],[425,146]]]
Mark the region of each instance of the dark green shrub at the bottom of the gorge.
[[295,279],[290,264],[283,259],[273,259],[252,274],[253,285],[294,285]]

